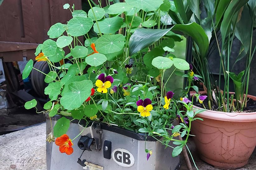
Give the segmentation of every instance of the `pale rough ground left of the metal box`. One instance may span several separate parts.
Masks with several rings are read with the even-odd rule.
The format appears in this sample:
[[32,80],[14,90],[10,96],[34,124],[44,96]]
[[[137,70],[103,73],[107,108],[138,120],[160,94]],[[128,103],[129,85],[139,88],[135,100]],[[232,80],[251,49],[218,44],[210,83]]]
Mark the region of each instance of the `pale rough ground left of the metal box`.
[[0,136],[0,170],[45,170],[46,123]]

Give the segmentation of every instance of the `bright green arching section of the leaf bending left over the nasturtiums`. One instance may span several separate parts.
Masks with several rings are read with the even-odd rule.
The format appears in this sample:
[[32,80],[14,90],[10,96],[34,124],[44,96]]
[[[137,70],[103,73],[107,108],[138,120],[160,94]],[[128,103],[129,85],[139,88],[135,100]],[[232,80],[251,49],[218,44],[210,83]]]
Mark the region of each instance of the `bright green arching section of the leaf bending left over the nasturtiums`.
[[185,25],[176,24],[172,27],[172,31],[175,30],[181,31],[191,36],[199,47],[201,57],[206,57],[209,48],[209,41],[207,35],[205,34],[205,31],[200,25],[195,22]]

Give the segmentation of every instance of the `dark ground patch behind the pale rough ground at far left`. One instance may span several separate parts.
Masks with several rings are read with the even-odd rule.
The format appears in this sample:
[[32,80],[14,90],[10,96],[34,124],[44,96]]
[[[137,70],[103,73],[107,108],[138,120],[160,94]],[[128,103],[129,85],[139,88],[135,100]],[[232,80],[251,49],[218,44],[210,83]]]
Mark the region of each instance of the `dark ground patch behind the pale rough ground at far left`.
[[23,106],[14,109],[1,109],[0,135],[42,122],[45,122],[44,115],[37,114],[34,109],[26,110]]

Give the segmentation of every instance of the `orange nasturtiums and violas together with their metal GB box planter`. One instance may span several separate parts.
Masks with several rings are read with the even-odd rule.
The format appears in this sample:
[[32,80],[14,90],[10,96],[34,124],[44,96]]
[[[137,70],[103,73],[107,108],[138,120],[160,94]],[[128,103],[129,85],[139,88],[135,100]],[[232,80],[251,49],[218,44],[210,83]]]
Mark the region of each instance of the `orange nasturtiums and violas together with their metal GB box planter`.
[[[55,141],[47,144],[48,169],[175,168],[179,161],[170,161],[171,154],[176,157],[183,147],[188,149],[191,122],[200,119],[195,116],[203,110],[194,113],[187,93],[173,97],[166,87],[176,69],[189,69],[185,60],[172,54],[173,38],[179,36],[160,29],[166,27],[161,20],[170,2],[150,1],[150,6],[149,1],[139,2],[101,8],[88,0],[88,14],[64,4],[73,18],[51,26],[48,35],[57,40],[48,39],[36,48],[36,61],[47,62],[50,72],[34,68],[32,60],[26,64],[23,79],[36,69],[49,83],[45,95],[50,101],[38,112],[48,117],[46,141]],[[179,27],[183,28],[172,29]],[[97,37],[90,37],[90,30]],[[175,69],[164,81],[171,67]],[[25,108],[36,103],[28,101]],[[181,123],[174,123],[177,119]]]

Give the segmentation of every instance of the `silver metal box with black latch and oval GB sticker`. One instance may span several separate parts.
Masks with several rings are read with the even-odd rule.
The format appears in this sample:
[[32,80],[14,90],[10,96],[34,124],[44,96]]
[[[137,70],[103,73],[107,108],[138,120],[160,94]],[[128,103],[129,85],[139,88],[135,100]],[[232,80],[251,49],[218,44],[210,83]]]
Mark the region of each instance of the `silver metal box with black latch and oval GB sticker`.
[[[60,116],[52,117],[53,125],[59,118]],[[67,132],[73,138],[83,131],[81,138],[73,141],[73,154],[62,154],[59,146],[54,142],[47,142],[47,170],[176,170],[180,167],[179,156],[172,157],[173,149],[165,149],[165,145],[151,136],[146,137],[146,148],[152,149],[153,154],[147,161],[145,134],[104,123],[92,123],[90,127],[83,128],[81,122],[79,125],[78,122],[70,123]],[[49,118],[46,122],[46,133],[48,132],[51,132]]]

